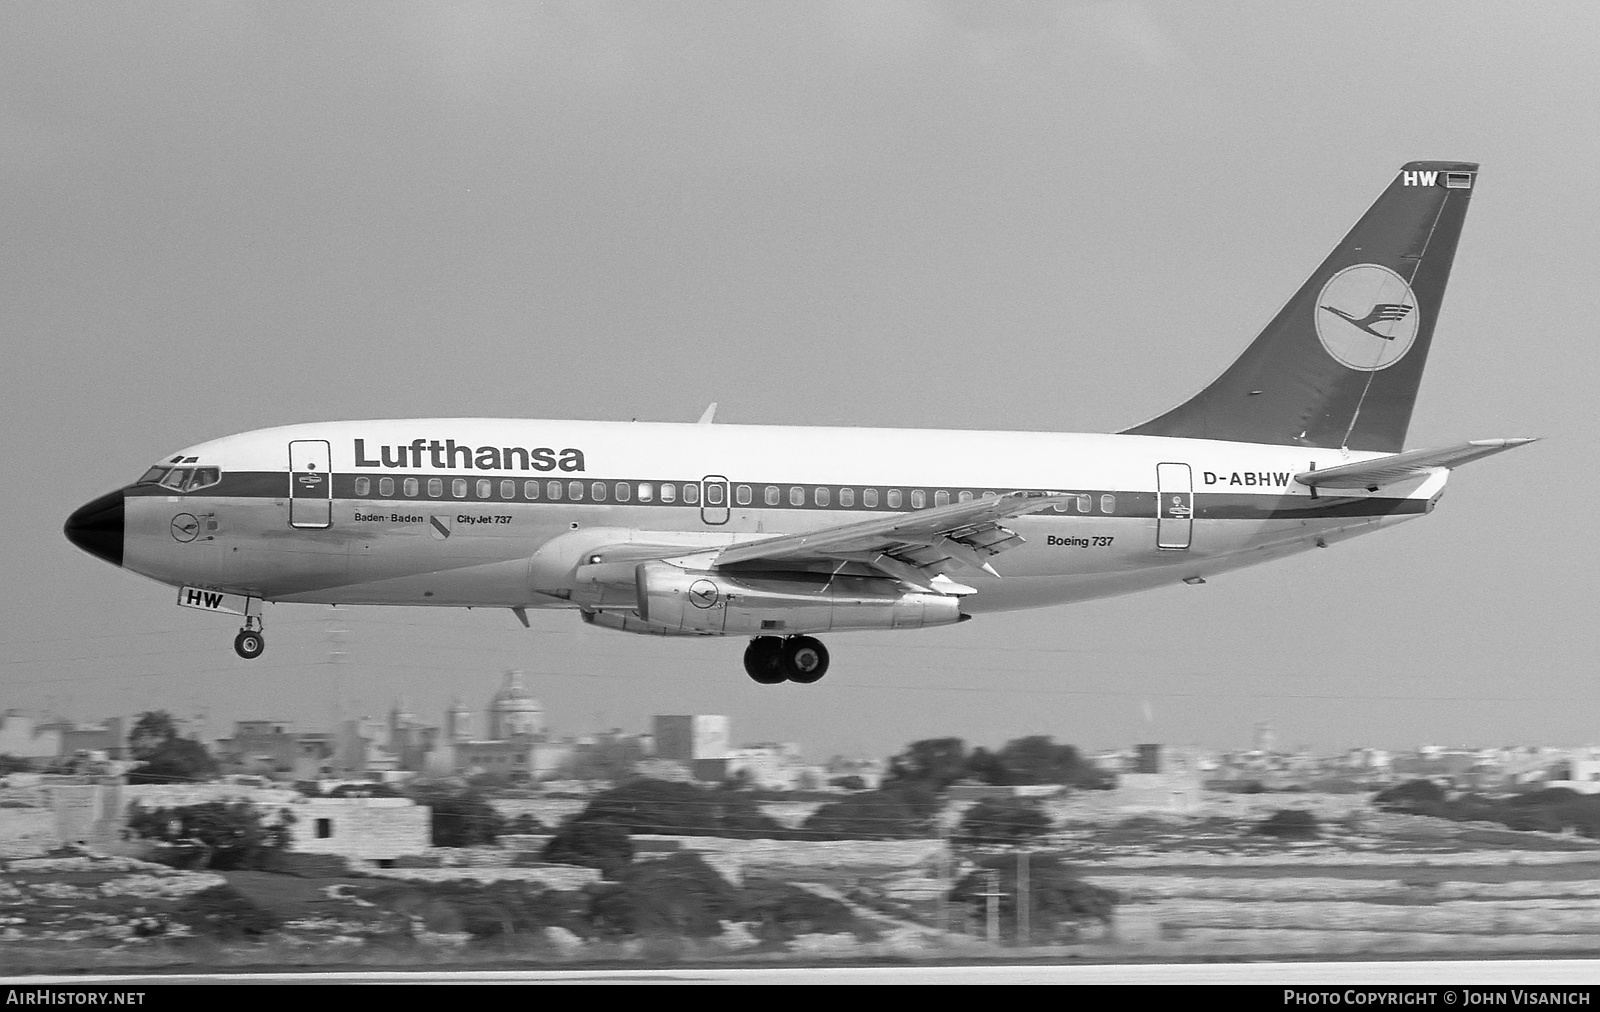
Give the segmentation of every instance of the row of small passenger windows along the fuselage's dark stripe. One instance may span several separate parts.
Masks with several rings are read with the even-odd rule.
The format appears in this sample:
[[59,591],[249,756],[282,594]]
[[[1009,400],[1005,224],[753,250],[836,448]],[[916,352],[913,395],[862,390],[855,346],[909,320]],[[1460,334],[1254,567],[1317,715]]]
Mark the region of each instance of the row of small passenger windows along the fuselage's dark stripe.
[[[427,496],[435,500],[443,498],[445,479],[430,477],[426,480],[427,480]],[[467,498],[467,487],[469,487],[469,479],[464,477],[450,479],[450,495],[453,498],[458,500]],[[402,479],[400,492],[406,498],[416,498],[422,495],[422,479],[414,479],[414,477]],[[568,482],[560,482],[554,479],[547,482],[539,482],[539,480],[517,482],[514,479],[502,479],[499,482],[499,488],[496,490],[496,482],[493,479],[480,477],[477,479],[477,487],[472,488],[472,492],[475,493],[474,498],[477,500],[493,500],[494,493],[499,492],[501,500],[520,498],[528,501],[542,500],[549,503],[560,503],[560,501],[582,503],[586,500],[590,503],[605,503],[605,501],[651,503],[656,501],[658,496],[662,503],[677,503],[680,501],[682,496],[682,501],[685,504],[694,506],[699,503],[701,488],[699,484],[696,482],[683,482],[682,485],[678,485],[677,482],[661,482],[658,485],[654,482],[584,482],[578,479]],[[394,493],[395,493],[395,479],[392,477],[378,479],[379,498],[392,498]],[[355,495],[358,496],[373,495],[373,479],[370,477],[355,479]],[[707,506],[722,506],[723,495],[725,493],[722,482],[712,482],[706,485]],[[752,485],[734,485],[733,488],[733,500],[739,506],[754,504],[755,495],[757,495],[755,487]],[[974,498],[986,498],[986,500],[997,498],[997,493],[994,492],[973,493],[968,490],[962,490],[952,493],[946,488],[934,490],[931,496],[925,488],[910,488],[910,490],[885,488],[882,490],[882,495],[878,488],[862,488],[859,498],[861,498],[861,506],[866,509],[877,509],[880,503],[886,509],[906,509],[906,506],[910,506],[910,509],[925,509],[930,504],[930,500],[933,506],[949,506],[952,501],[952,495],[954,501],[957,503],[971,503]],[[786,492],[779,485],[766,485],[762,490],[760,498],[762,504],[765,506],[782,506],[786,504],[786,500],[789,506],[805,506],[808,501],[813,506],[832,506],[835,498],[835,490],[827,485],[810,485],[810,487],[789,485]],[[851,509],[856,506],[854,488],[838,488],[837,498],[838,504],[845,509]],[[1072,506],[1077,506],[1078,512],[1094,512],[1094,496],[1083,493],[1075,496],[1072,503],[1056,506],[1054,509],[1056,512],[1070,512]],[[1099,509],[1101,512],[1106,514],[1115,512],[1117,496],[1110,493],[1101,495]]]

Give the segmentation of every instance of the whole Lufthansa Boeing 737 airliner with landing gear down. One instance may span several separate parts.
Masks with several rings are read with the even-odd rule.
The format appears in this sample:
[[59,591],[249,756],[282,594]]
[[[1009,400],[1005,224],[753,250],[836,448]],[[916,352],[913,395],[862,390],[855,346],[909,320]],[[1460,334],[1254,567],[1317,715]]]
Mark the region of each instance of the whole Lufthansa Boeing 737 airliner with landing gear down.
[[[259,429],[72,514],[78,548],[243,618],[262,602],[571,608],[816,639],[1202,583],[1432,511],[1528,439],[1405,452],[1477,165],[1405,165],[1216,381],[1117,434],[421,418]],[[702,421],[710,423],[710,416]]]

